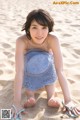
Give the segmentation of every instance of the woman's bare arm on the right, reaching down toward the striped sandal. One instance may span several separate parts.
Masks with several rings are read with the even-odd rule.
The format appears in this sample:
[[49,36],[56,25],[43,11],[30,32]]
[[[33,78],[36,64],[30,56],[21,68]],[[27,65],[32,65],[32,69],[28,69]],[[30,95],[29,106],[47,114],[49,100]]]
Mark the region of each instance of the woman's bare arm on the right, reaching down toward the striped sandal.
[[53,37],[51,36],[50,46],[53,51],[55,68],[56,68],[61,89],[63,91],[64,101],[65,103],[68,103],[69,101],[71,101],[71,96],[70,96],[67,79],[65,78],[64,72],[63,72],[63,60],[62,60],[59,40],[55,36]]

